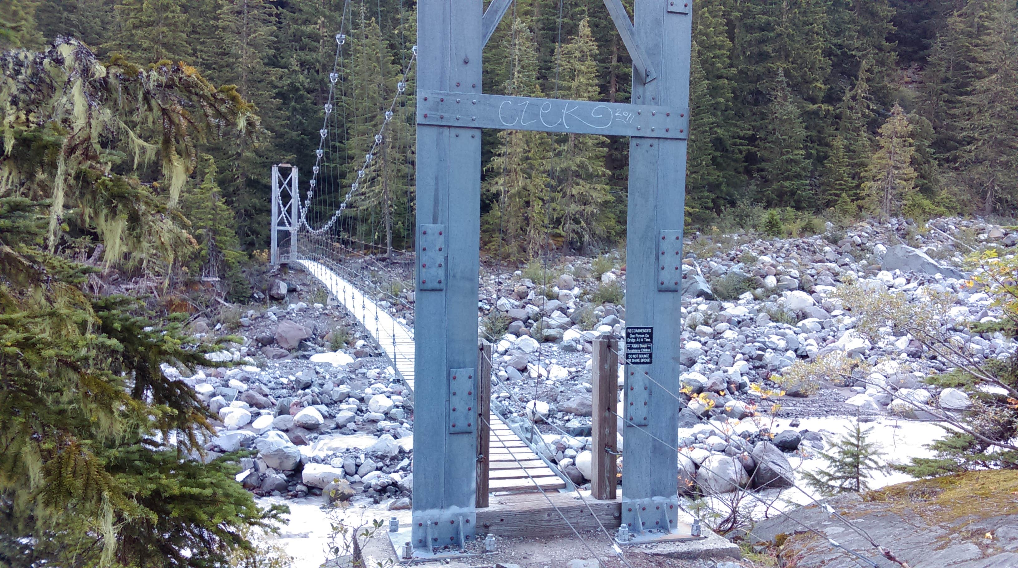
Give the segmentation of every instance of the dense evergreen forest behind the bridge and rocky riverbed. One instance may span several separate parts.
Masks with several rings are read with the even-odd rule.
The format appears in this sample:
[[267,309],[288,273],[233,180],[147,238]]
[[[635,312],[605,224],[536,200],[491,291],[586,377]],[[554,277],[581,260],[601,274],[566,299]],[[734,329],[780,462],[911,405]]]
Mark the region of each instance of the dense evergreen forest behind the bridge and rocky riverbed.
[[[356,181],[416,24],[410,0],[4,4],[7,48],[72,37],[100,59],[183,62],[235,85],[254,106],[256,135],[203,145],[215,171],[191,168],[187,183],[215,184],[241,251],[267,246],[270,166],[295,164],[306,179],[315,164],[334,65],[342,151],[323,184],[343,194]],[[761,227],[767,209],[799,219],[786,224],[794,231],[812,216],[1007,215],[1018,204],[1013,2],[704,0],[694,15],[693,228]],[[487,92],[628,102],[630,80],[597,0],[515,2],[485,51]],[[378,172],[360,184],[360,207],[383,211],[357,230],[362,241],[409,246],[412,105],[400,99]],[[549,245],[589,251],[624,238],[626,140],[486,131],[484,142],[489,251],[501,239],[525,260]]]

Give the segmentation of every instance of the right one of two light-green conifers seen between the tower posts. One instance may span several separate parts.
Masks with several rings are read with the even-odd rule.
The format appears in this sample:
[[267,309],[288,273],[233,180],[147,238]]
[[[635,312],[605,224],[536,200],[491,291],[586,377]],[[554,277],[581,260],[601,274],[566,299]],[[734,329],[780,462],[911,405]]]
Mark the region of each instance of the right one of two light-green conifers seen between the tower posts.
[[[573,101],[596,100],[598,45],[586,18],[559,52],[559,77],[563,83],[559,96]],[[603,209],[612,198],[605,183],[609,177],[605,169],[607,143],[604,136],[576,134],[565,134],[556,143],[552,175],[557,188],[550,204],[552,223],[566,243],[578,250],[614,231],[611,217]]]

